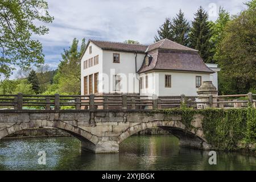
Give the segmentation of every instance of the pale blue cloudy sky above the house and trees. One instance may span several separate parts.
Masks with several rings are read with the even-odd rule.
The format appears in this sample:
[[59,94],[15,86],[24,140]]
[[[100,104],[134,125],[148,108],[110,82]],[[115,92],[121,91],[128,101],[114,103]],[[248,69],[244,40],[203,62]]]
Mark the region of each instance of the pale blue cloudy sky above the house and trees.
[[57,68],[60,53],[73,38],[123,42],[138,40],[142,44],[154,42],[154,35],[166,17],[173,18],[181,9],[185,18],[203,6],[210,20],[217,19],[218,7],[230,14],[245,9],[247,0],[48,0],[49,13],[54,21],[48,24],[49,34],[40,36],[46,64]]

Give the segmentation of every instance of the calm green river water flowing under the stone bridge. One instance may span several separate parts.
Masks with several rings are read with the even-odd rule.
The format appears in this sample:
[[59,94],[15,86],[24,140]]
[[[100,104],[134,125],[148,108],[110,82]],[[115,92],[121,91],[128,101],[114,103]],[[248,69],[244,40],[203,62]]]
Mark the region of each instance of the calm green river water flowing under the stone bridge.
[[[218,152],[209,165],[208,152],[179,147],[172,136],[133,136],[119,154],[81,151],[73,137],[0,140],[0,170],[256,170],[255,156]],[[39,165],[46,151],[46,165]]]

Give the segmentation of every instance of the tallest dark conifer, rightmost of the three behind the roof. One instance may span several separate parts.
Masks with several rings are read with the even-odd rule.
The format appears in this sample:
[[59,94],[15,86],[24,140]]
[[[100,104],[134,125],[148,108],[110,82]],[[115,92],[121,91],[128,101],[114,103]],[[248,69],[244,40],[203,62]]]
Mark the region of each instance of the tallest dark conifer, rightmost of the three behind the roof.
[[190,47],[197,49],[205,63],[213,62],[213,43],[210,42],[212,29],[208,20],[207,12],[200,7],[195,14],[189,35]]

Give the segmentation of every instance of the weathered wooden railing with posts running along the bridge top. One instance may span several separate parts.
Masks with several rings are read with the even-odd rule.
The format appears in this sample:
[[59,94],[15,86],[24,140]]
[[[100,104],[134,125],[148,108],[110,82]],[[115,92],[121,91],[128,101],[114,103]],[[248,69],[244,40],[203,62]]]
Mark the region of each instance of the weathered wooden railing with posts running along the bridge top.
[[[234,100],[235,98],[235,100]],[[205,107],[255,107],[256,94],[237,94],[226,96],[130,96],[118,95],[85,95],[54,96],[44,95],[0,95],[0,109],[165,109],[180,107],[181,104],[203,109]]]

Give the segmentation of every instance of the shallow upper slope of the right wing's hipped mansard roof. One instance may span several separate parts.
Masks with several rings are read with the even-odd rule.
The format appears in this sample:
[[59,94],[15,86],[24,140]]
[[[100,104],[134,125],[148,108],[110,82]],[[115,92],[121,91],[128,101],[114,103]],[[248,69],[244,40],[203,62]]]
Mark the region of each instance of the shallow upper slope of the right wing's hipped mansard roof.
[[169,39],[163,39],[159,42],[156,42],[154,44],[151,44],[147,48],[147,52],[152,51],[154,49],[173,49],[173,50],[181,50],[181,51],[197,51],[196,49],[192,49],[189,47],[182,46],[181,44],[178,44],[176,42],[172,42]]

